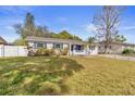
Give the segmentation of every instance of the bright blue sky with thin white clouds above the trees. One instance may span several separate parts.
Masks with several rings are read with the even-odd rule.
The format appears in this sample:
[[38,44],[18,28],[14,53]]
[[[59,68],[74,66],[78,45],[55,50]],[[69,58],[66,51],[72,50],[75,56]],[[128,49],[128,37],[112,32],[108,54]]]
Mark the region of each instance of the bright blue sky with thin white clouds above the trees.
[[[93,17],[101,7],[0,7],[0,36],[12,42],[19,38],[13,25],[23,23],[25,14],[35,16],[36,25],[46,25],[49,30],[59,33],[63,29],[77,35],[84,40],[95,35]],[[135,7],[126,7],[122,14],[120,34],[127,42],[135,43]]]

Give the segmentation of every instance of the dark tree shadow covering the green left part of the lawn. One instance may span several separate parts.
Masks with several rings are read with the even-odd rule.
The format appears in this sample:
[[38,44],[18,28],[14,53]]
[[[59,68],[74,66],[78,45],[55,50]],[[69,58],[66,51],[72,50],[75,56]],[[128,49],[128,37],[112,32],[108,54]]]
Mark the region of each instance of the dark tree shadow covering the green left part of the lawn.
[[0,94],[64,94],[66,78],[84,68],[74,60],[50,56],[5,59],[0,64]]

